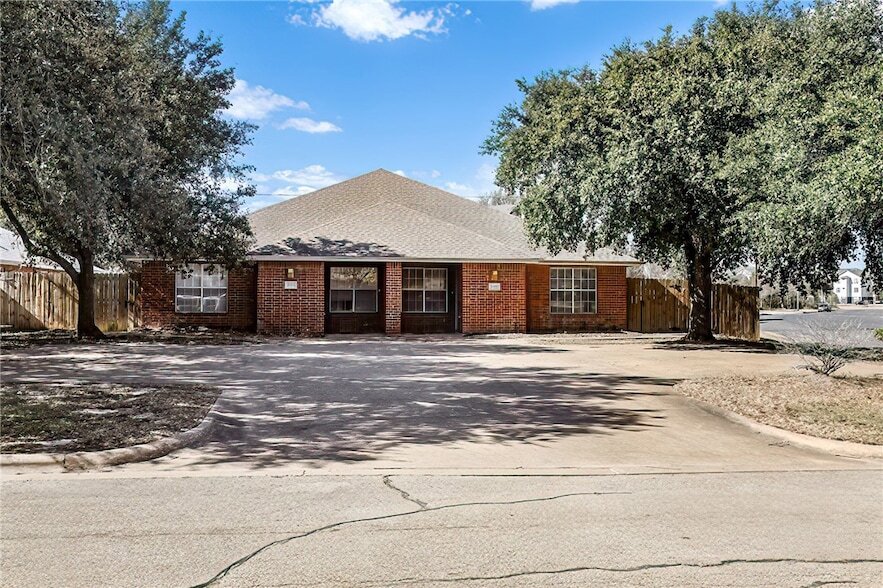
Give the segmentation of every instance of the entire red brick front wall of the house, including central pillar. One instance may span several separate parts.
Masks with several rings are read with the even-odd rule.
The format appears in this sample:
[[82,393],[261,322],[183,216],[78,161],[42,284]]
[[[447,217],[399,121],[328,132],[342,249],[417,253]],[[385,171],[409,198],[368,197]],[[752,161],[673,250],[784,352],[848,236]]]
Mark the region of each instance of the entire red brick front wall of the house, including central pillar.
[[[297,290],[285,290],[294,268]],[[488,290],[498,272],[500,292]],[[196,327],[268,334],[322,335],[325,332],[325,276],[322,262],[262,261],[233,269],[228,278],[228,310],[217,314],[175,312],[175,274],[159,261],[141,272],[142,323],[147,327]],[[549,266],[464,263],[461,279],[463,333],[595,331],[626,328],[626,268],[597,266],[598,312],[559,315],[549,310]],[[387,334],[402,329],[402,267],[387,264],[383,284]]]

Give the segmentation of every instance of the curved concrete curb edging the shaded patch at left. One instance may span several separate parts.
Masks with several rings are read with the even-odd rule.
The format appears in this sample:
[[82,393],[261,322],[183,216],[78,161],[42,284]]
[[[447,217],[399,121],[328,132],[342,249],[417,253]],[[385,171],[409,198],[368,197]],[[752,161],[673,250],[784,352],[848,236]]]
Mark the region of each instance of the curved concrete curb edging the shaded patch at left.
[[215,407],[221,399],[221,394],[215,399],[215,403],[209,408],[202,421],[193,427],[171,437],[161,437],[150,443],[140,443],[129,447],[117,449],[105,449],[103,451],[79,451],[77,453],[32,453],[0,454],[0,466],[61,466],[66,471],[87,470],[106,466],[134,463],[138,461],[150,461],[158,457],[168,455],[173,451],[195,445],[208,437],[217,422]]

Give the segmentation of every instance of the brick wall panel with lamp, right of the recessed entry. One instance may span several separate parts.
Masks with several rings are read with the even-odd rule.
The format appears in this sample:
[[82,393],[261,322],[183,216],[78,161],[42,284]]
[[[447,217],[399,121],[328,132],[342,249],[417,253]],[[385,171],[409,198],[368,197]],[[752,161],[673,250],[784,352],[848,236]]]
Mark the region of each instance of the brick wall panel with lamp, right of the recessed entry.
[[[499,292],[488,290],[490,272],[498,272]],[[523,333],[527,329],[526,266],[523,263],[464,263],[462,330],[464,333]]]

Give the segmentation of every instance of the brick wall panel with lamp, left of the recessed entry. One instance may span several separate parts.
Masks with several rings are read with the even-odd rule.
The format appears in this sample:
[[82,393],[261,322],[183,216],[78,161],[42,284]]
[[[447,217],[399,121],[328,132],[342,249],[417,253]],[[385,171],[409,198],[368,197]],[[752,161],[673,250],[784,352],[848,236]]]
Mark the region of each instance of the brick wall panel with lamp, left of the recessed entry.
[[[293,268],[297,290],[286,290]],[[316,336],[325,333],[325,264],[287,261],[258,262],[259,333]]]

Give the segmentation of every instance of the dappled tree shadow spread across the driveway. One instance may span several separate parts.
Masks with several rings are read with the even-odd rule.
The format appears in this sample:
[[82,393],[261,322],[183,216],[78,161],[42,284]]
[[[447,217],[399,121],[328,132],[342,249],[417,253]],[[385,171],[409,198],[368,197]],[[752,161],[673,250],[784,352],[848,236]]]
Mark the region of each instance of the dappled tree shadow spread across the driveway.
[[544,443],[661,424],[640,397],[674,380],[549,367],[560,351],[465,339],[130,343],[22,351],[4,371],[17,381],[219,386],[220,419],[196,465],[323,465],[405,445]]

